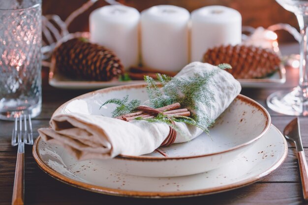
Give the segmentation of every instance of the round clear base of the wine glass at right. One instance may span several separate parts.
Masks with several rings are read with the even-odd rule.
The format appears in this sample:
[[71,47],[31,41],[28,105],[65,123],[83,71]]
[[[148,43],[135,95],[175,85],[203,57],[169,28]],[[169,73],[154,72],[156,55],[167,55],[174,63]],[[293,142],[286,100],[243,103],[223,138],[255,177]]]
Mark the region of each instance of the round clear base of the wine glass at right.
[[305,90],[297,87],[291,91],[274,92],[268,96],[267,106],[277,113],[289,116],[308,116],[308,93]]

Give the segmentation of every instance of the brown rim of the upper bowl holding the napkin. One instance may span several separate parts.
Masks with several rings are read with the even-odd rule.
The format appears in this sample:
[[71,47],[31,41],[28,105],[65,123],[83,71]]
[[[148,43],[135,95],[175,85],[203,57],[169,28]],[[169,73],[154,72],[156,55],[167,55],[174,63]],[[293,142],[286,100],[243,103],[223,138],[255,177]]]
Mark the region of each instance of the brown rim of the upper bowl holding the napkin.
[[[92,96],[92,95],[97,94],[97,93],[106,93],[106,92],[110,92],[110,91],[114,91],[114,90],[122,90],[122,89],[127,89],[127,88],[144,88],[146,85],[147,85],[146,83],[142,83],[142,84],[131,84],[131,85],[125,85],[125,86],[116,86],[116,87],[111,87],[111,88],[102,88],[102,89],[98,89],[98,90],[95,90],[95,91],[92,91],[92,92],[88,92],[88,93],[79,95],[79,96],[74,97],[73,99],[70,99],[69,101],[63,103],[52,114],[52,117],[60,114],[61,110],[63,110],[65,108],[65,106],[67,104],[69,104],[70,102],[72,102],[73,100],[84,99],[84,98],[87,98],[87,97]],[[243,101],[246,101],[246,102],[248,101],[250,104],[251,103],[254,104],[253,106],[258,107],[259,110],[261,110],[264,113],[265,117],[267,118],[267,124],[266,124],[265,128],[263,129],[263,131],[258,136],[256,136],[254,139],[252,139],[252,140],[250,140],[246,143],[243,143],[243,144],[238,145],[238,146],[233,146],[231,148],[228,148],[228,149],[225,149],[225,150],[222,150],[222,151],[212,152],[212,153],[208,153],[208,154],[194,155],[194,156],[180,156],[180,157],[154,157],[154,156],[151,156],[151,157],[149,157],[149,156],[119,155],[115,158],[116,159],[123,159],[123,160],[136,160],[136,161],[139,161],[139,160],[142,160],[142,161],[145,161],[145,160],[146,161],[179,160],[179,159],[190,159],[190,158],[214,156],[214,155],[229,152],[229,151],[232,151],[232,150],[244,147],[244,146],[248,146],[251,143],[260,139],[270,129],[270,127],[271,127],[271,116],[270,116],[269,112],[262,105],[260,105],[258,102],[254,101],[253,99],[251,99],[251,98],[249,98],[245,95],[242,95],[242,94],[239,94],[236,98],[240,98],[239,100],[243,100]]]

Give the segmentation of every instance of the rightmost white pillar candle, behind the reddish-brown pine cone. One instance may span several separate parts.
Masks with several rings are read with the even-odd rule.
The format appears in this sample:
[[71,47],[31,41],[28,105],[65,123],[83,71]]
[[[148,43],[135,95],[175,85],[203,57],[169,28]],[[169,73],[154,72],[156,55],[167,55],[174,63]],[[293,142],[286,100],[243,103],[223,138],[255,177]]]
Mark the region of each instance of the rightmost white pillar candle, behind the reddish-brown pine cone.
[[242,42],[242,16],[225,6],[206,6],[191,13],[191,61],[219,45]]

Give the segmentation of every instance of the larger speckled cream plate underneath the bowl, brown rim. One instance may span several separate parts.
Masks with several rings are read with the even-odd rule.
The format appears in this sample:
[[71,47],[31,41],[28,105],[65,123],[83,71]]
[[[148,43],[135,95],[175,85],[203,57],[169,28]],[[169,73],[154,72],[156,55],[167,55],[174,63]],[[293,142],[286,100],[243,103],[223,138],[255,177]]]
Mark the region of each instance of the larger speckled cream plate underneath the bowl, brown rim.
[[286,155],[287,143],[273,125],[264,137],[228,164],[180,177],[116,173],[96,160],[76,161],[61,146],[47,144],[40,137],[33,146],[38,166],[64,183],[103,194],[149,198],[198,196],[246,186],[275,171]]

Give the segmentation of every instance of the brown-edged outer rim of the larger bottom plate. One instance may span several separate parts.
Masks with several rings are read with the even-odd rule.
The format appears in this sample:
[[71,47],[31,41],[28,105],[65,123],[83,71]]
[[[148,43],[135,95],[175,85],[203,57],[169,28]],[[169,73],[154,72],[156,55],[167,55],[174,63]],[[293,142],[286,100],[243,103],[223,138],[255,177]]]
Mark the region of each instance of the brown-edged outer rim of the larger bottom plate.
[[176,197],[192,197],[192,196],[201,196],[201,195],[209,195],[209,194],[215,194],[215,193],[220,193],[224,191],[229,191],[233,189],[237,189],[240,187],[244,187],[246,185],[252,184],[253,182],[256,182],[260,180],[261,178],[273,173],[285,160],[288,152],[288,146],[287,142],[282,135],[282,133],[277,129],[276,126],[271,124],[273,128],[276,130],[276,132],[279,134],[281,139],[284,142],[284,152],[281,155],[281,158],[277,160],[277,163],[274,165],[271,165],[268,170],[264,171],[261,174],[258,174],[257,176],[248,178],[243,181],[239,181],[234,184],[229,184],[229,185],[223,185],[215,188],[206,188],[206,189],[198,189],[198,190],[192,190],[192,191],[180,191],[180,192],[142,192],[142,191],[130,191],[130,190],[121,190],[121,189],[112,189],[112,188],[107,188],[107,187],[102,187],[102,186],[97,186],[97,185],[92,185],[89,183],[77,181],[74,179],[71,179],[67,176],[63,176],[62,174],[58,173],[57,171],[53,170],[50,168],[48,165],[46,165],[41,158],[39,157],[39,152],[38,152],[38,142],[41,140],[41,137],[39,136],[32,147],[32,154],[33,157],[38,164],[38,166],[49,176],[52,176],[53,178],[60,180],[66,184],[72,185],[77,188],[89,190],[92,192],[97,192],[101,194],[107,194],[107,195],[114,195],[114,196],[125,196],[125,197],[137,197],[137,198],[176,198]]

